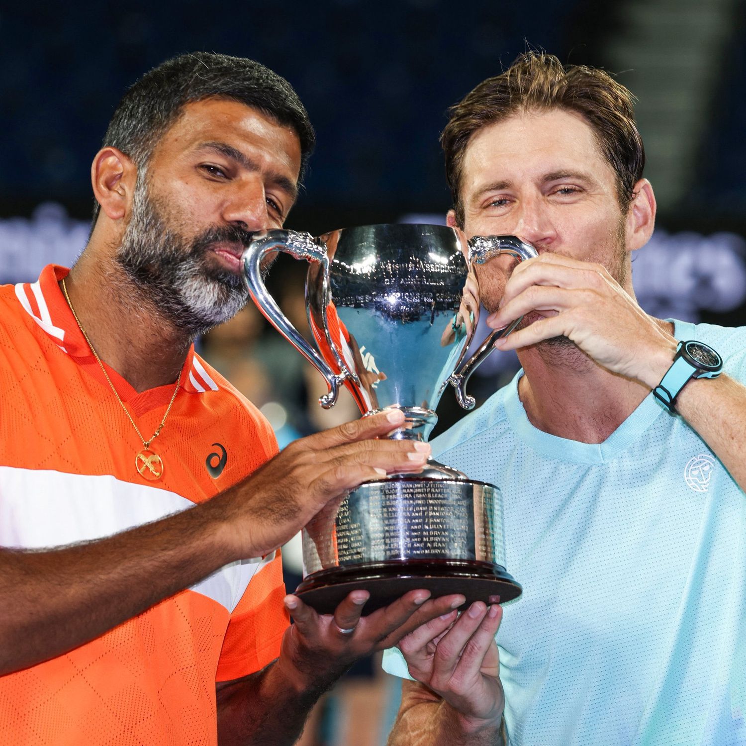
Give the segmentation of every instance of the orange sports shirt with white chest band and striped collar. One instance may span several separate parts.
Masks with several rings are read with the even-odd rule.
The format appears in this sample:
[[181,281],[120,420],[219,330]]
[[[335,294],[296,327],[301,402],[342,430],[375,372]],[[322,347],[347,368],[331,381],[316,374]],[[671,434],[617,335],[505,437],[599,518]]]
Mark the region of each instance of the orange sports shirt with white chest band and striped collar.
[[[277,452],[272,429],[189,351],[166,425],[142,442],[47,266],[0,286],[0,545],[43,548],[110,536],[186,510]],[[145,436],[173,386],[138,393],[107,372]],[[64,592],[64,589],[60,589]],[[0,744],[214,745],[216,681],[275,659],[289,619],[279,553],[233,562],[98,639],[0,677]]]

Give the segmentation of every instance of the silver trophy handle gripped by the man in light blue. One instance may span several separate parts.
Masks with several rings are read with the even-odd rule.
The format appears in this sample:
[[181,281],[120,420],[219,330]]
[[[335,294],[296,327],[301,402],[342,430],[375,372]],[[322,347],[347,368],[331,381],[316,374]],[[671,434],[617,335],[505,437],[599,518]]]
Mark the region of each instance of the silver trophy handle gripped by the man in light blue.
[[[468,259],[470,264],[472,262],[483,264],[488,259],[497,257],[500,254],[510,254],[510,256],[515,257],[520,262],[538,256],[536,249],[532,245],[521,241],[516,236],[472,236],[468,239]],[[454,371],[448,378],[448,383],[451,383],[451,386],[456,389],[456,398],[459,404],[465,410],[474,409],[474,404],[476,404],[474,397],[466,393],[466,383],[468,383],[471,374],[486,360],[492,350],[495,349],[495,342],[501,336],[510,334],[521,323],[521,319],[523,319],[523,316],[510,322],[504,329],[493,331],[482,342],[479,349],[466,360],[466,363],[463,363],[463,366],[460,366],[461,361],[459,361],[459,365],[457,365],[458,372]]]

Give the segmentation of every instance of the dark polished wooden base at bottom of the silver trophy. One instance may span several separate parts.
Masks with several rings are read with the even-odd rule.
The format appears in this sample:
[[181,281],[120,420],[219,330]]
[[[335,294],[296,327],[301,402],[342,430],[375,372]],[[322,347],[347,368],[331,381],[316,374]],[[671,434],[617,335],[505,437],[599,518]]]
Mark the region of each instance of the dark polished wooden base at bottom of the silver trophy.
[[500,565],[479,560],[386,560],[319,570],[295,589],[304,604],[319,614],[332,614],[348,593],[370,592],[363,606],[368,615],[415,589],[430,591],[430,598],[461,593],[466,604],[504,604],[523,592]]

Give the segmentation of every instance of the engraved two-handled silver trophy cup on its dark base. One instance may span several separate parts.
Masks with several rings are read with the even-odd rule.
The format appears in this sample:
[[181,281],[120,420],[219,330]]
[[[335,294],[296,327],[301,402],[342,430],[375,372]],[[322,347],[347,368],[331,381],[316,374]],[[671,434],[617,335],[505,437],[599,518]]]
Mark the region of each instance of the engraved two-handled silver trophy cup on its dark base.
[[[310,263],[306,307],[317,349],[264,286],[263,260],[275,251]],[[515,236],[474,236],[466,260],[457,232],[441,225],[364,225],[319,238],[267,231],[254,234],[243,269],[257,307],[327,380],[322,407],[332,407],[344,385],[363,416],[387,407],[404,412],[404,427],[389,437],[424,441],[449,383],[462,407],[474,407],[468,377],[520,322],[493,332],[465,360],[477,325],[463,319],[468,267],[498,254],[520,261],[536,250]],[[357,487],[316,515],[302,539],[304,580],[295,592],[321,613],[354,589],[369,590],[366,613],[416,588],[433,597],[462,593],[467,604],[521,594],[505,570],[497,487],[434,460],[421,474]]]

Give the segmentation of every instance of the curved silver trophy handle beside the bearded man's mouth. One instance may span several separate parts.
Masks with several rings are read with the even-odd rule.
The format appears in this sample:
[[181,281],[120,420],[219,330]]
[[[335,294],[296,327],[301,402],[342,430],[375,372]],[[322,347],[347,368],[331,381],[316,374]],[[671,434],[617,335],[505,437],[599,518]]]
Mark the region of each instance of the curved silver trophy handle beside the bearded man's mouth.
[[[343,363],[340,365],[339,374],[333,372],[326,360],[289,322],[289,319],[280,310],[275,298],[272,298],[272,295],[269,295],[269,292],[267,292],[260,267],[263,258],[272,251],[284,251],[286,254],[290,254],[293,259],[318,262],[322,265],[324,277],[327,278],[329,273],[329,257],[326,246],[322,240],[314,238],[310,233],[301,233],[299,231],[263,231],[261,233],[254,233],[252,236],[251,243],[243,253],[242,264],[244,279],[246,280],[251,300],[257,304],[257,308],[263,313],[267,321],[324,376],[327,386],[329,386],[329,392],[319,399],[319,403],[325,409],[329,409],[336,404],[336,398],[339,395],[339,386],[353,376]],[[326,319],[324,321],[326,322]],[[333,345],[331,346],[334,349]],[[339,360],[338,355],[335,355],[335,357]]]

